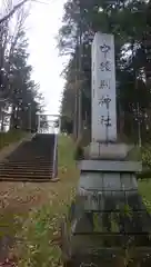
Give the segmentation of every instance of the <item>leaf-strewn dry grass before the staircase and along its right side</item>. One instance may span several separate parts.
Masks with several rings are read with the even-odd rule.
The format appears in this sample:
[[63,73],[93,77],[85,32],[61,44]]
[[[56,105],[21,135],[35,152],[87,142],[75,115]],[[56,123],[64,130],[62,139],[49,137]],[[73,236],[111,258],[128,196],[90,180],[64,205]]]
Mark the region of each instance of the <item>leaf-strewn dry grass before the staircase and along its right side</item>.
[[1,236],[9,236],[10,243],[16,237],[13,254],[19,266],[58,265],[60,250],[50,244],[74,194],[78,170],[73,150],[69,137],[59,139],[59,182],[0,184]]

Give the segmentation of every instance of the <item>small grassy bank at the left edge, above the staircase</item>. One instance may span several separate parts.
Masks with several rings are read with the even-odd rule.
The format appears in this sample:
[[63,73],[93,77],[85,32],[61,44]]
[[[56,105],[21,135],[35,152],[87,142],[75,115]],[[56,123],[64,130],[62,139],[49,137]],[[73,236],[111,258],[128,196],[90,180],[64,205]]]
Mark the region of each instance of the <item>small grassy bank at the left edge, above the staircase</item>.
[[26,132],[21,130],[10,130],[8,132],[0,132],[0,149],[12,142],[19,141],[24,136]]

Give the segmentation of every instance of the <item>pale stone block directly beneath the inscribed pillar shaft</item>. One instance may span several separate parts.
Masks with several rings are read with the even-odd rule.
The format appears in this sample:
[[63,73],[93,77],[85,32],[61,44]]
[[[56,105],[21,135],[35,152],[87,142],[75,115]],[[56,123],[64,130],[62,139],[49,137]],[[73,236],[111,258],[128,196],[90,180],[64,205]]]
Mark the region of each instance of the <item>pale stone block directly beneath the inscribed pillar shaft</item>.
[[125,144],[91,142],[89,158],[91,159],[124,159],[133,146]]

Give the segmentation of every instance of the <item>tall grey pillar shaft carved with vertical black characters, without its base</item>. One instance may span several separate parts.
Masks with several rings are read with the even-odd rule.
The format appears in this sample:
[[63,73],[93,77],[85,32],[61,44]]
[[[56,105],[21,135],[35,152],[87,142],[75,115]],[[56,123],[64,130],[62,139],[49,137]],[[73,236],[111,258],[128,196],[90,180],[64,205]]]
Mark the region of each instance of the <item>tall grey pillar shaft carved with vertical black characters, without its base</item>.
[[92,140],[117,139],[114,39],[95,33],[92,43]]

